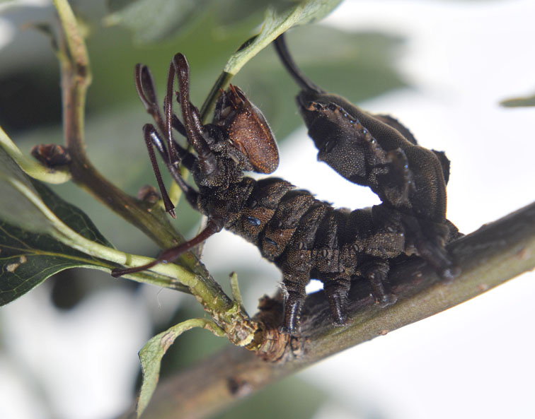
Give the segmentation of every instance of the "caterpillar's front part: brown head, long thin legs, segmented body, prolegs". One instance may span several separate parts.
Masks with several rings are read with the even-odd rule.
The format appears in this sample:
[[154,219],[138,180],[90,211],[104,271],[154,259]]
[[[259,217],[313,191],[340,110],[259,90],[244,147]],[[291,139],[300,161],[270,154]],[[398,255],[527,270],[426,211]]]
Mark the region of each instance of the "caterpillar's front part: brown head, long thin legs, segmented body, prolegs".
[[[171,109],[175,75],[183,122]],[[158,127],[146,124],[144,138],[168,211],[173,206],[166,197],[154,147],[186,199],[208,221],[199,235],[164,250],[151,264],[116,269],[113,276],[171,262],[226,228],[255,244],[266,259],[281,269],[285,295],[282,330],[287,333],[299,329],[305,285],[311,278],[323,281],[337,324],[345,322],[345,300],[352,278],[369,278],[380,302],[395,301],[383,284],[389,259],[415,252],[405,240],[401,211],[385,204],[355,211],[335,209],[283,179],[255,181],[244,177],[244,170],[270,173],[277,167],[279,155],[270,128],[260,110],[232,85],[217,100],[212,124],[203,126],[197,108],[189,101],[189,67],[183,54],[176,54],[171,62],[165,117],[159,110],[154,81],[146,66],[136,67],[135,81],[139,98]],[[173,128],[188,139],[195,154],[173,140]],[[192,172],[198,191],[180,176],[179,164]]]

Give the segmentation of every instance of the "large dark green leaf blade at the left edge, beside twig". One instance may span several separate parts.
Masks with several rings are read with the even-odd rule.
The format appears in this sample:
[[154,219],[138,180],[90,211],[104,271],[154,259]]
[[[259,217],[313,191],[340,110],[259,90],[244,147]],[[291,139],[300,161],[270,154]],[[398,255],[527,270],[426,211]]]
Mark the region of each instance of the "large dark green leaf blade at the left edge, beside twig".
[[53,237],[57,225],[43,208],[48,208],[81,237],[113,247],[82,211],[26,176],[3,149],[0,149],[0,196],[0,305],[15,300],[64,269],[110,266]]

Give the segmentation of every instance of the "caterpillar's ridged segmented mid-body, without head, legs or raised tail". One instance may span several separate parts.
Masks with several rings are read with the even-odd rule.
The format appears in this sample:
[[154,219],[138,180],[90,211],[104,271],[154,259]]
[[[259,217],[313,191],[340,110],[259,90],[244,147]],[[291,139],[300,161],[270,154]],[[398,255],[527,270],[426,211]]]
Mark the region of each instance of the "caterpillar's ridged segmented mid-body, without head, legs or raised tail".
[[285,277],[297,281],[308,282],[311,273],[322,281],[360,275],[362,263],[395,257],[404,249],[398,213],[382,206],[333,208],[277,177],[246,177],[221,196],[211,192],[201,194],[203,212],[219,209],[226,230],[255,244]]

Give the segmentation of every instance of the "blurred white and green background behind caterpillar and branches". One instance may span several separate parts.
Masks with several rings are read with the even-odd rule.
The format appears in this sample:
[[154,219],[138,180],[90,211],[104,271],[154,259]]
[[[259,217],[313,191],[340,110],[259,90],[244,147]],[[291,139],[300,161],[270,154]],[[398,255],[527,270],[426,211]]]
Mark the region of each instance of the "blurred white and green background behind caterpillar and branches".
[[[93,70],[88,154],[115,184],[136,194],[155,182],[141,131],[149,116],[134,90],[134,64],[149,64],[163,91],[168,62],[185,53],[192,102],[200,105],[226,59],[254,33],[263,7],[177,1],[180,13],[173,15],[159,11],[161,1],[152,7],[161,19],[156,24],[151,16],[142,23],[125,18],[125,1],[70,3],[86,23]],[[108,5],[118,14],[110,17]],[[535,92],[534,16],[531,0],[346,0],[320,24],[292,30],[288,42],[318,85],[398,117],[422,146],[447,152],[448,218],[468,233],[534,199],[535,110],[499,105]],[[0,4],[0,125],[25,152],[37,143],[62,143],[57,61],[50,39],[32,28],[43,22],[54,23],[48,1]],[[294,106],[298,89],[270,47],[233,83],[263,110],[280,141],[276,176],[336,206],[377,203],[369,190],[316,161]],[[117,249],[157,253],[84,191],[68,184],[54,191],[82,208]],[[192,237],[194,211],[180,206],[177,218]],[[224,287],[229,273],[238,273],[251,314],[280,281],[258,249],[226,232],[208,240],[202,261]],[[534,279],[534,273],[524,274],[346,350],[217,417],[533,418]],[[0,308],[0,418],[119,415],[139,384],[138,350],[168,326],[199,316],[202,310],[188,295],[97,271],[57,274]],[[206,331],[188,331],[164,357],[163,377],[224,345]]]

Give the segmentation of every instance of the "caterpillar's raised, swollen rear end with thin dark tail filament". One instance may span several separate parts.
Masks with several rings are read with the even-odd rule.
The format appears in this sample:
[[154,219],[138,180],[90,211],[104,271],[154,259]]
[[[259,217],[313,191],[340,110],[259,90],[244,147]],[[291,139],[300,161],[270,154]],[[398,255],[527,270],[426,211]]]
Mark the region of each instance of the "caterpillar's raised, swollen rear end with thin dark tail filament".
[[294,63],[284,35],[275,40],[275,49],[301,88],[297,106],[318,148],[318,160],[351,182],[370,187],[386,208],[402,213],[405,245],[412,245],[444,278],[456,276],[444,249],[459,235],[446,219],[446,155],[418,146],[396,119],[370,114],[312,83]]

